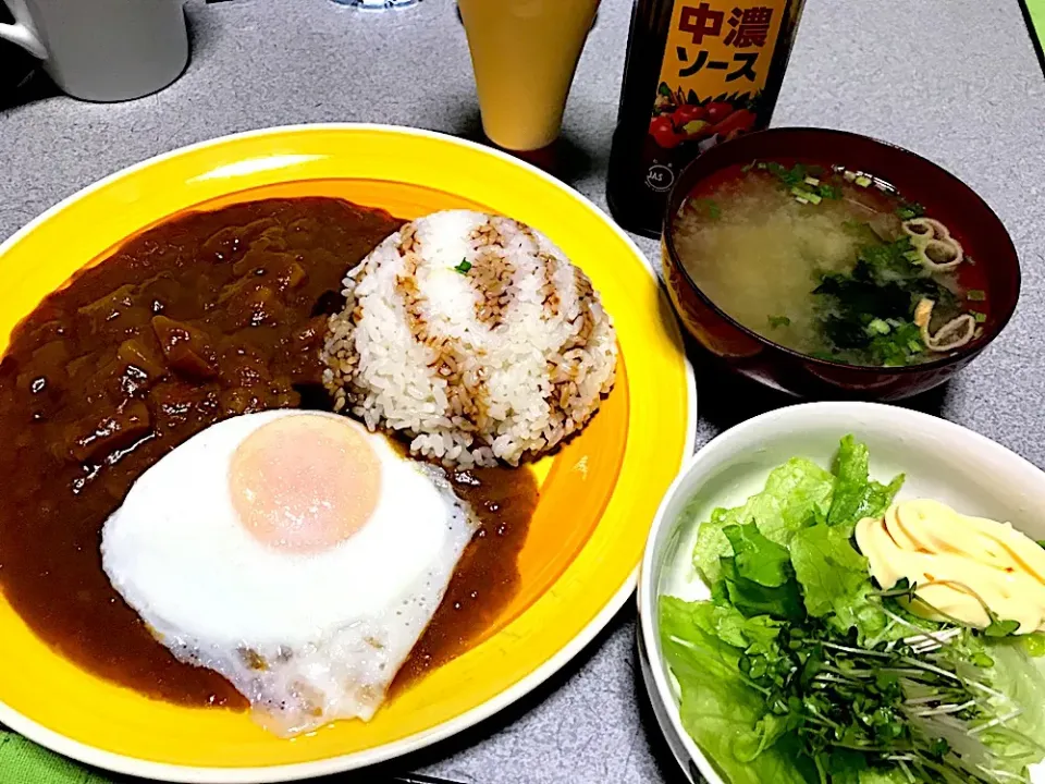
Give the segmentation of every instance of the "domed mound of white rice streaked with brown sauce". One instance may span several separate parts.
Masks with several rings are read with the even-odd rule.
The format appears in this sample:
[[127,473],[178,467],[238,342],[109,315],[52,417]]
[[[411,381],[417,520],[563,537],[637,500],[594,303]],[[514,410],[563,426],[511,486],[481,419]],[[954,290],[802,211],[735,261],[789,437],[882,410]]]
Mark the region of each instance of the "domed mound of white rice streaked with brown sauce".
[[448,210],[389,236],[344,280],[323,380],[335,411],[447,466],[518,465],[585,426],[613,388],[613,321],[540,232]]

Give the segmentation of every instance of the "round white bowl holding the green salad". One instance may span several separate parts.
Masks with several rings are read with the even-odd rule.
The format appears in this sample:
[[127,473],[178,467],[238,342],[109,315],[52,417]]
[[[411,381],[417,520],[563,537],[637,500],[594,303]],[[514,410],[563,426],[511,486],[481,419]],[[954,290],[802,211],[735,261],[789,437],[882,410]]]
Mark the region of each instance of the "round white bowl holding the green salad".
[[[1045,473],[1000,444],[927,414],[874,403],[808,403],[763,414],[712,440],[668,488],[646,544],[638,588],[643,681],[672,752],[694,783],[727,784],[683,727],[677,684],[661,650],[657,599],[708,599],[692,564],[701,522],[715,507],[736,506],[761,491],[769,473],[790,457],[829,467],[847,433],[868,445],[872,478],[888,481],[906,474],[898,498],[936,499],[1045,539]],[[1045,767],[1036,765],[1031,777],[1045,784]]]

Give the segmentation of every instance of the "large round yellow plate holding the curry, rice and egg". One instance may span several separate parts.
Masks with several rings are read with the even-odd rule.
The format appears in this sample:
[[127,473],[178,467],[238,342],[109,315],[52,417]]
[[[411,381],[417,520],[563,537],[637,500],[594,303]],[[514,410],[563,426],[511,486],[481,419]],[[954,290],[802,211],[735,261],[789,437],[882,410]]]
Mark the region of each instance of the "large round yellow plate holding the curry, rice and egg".
[[541,498],[519,554],[518,595],[478,645],[369,723],[336,722],[285,740],[245,713],[147,699],[54,653],[0,599],[0,722],[84,762],[171,781],[290,781],[386,760],[475,724],[541,684],[620,608],[661,495],[692,451],[692,370],[635,244],[537,169],[423,131],[260,131],[93,185],[0,246],[0,350],[44,296],[127,236],[187,208],[286,194],[344,196],[402,218],[472,207],[540,229],[602,293],[623,372],[585,432],[537,466]]

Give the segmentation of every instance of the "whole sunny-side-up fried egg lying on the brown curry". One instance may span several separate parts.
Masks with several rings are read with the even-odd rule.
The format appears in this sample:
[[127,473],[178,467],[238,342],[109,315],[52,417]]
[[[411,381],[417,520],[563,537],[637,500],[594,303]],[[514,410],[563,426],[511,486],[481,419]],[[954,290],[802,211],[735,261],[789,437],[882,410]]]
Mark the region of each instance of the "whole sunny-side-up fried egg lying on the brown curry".
[[437,467],[342,416],[226,419],[149,468],[102,566],[180,660],[281,735],[369,720],[478,523]]

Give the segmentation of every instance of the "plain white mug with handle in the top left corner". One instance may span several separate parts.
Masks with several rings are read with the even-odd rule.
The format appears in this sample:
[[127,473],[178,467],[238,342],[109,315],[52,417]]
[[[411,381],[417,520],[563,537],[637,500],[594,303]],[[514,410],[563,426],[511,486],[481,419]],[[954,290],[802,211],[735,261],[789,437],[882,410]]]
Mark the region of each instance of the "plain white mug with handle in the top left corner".
[[14,24],[0,38],[44,61],[74,98],[120,101],[156,93],[188,63],[184,0],[0,0]]

